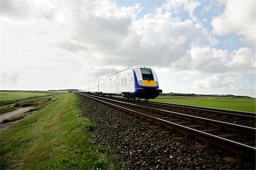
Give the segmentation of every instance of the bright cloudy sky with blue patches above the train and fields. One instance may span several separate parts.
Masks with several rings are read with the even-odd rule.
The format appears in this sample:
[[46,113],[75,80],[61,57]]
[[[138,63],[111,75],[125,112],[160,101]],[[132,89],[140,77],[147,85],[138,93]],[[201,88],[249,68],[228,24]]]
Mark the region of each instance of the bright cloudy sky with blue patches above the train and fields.
[[79,88],[133,65],[163,92],[255,97],[255,1],[0,1],[1,90]]

